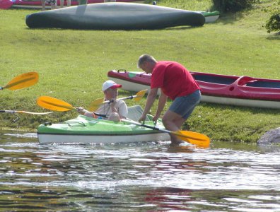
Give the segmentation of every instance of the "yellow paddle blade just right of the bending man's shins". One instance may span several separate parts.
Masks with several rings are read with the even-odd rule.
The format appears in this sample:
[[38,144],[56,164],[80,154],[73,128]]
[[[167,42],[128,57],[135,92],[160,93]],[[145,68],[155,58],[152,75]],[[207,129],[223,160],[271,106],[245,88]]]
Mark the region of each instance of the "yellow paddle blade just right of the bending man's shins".
[[171,134],[175,134],[182,141],[187,141],[202,148],[208,148],[210,145],[210,139],[204,134],[199,134],[193,131],[172,131]]

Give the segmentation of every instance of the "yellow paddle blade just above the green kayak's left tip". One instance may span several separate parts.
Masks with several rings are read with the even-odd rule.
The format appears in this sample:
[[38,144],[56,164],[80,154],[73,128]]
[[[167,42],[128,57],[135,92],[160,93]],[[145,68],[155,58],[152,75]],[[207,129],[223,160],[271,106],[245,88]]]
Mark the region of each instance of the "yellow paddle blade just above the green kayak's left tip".
[[37,105],[54,111],[69,111],[75,109],[75,107],[69,103],[49,96],[41,96],[40,98],[37,98]]

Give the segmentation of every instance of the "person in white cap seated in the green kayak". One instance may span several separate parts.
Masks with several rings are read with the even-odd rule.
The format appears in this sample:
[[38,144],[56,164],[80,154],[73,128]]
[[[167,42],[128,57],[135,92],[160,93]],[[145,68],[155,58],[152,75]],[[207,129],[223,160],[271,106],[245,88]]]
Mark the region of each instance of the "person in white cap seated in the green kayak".
[[[117,100],[117,88],[122,88],[122,85],[119,85],[114,81],[105,81],[105,83],[103,83],[102,90],[105,100],[110,100],[112,102],[100,105],[98,110],[95,111],[98,114],[106,115],[108,120],[115,122],[119,122],[120,119],[126,119],[128,113],[127,104],[124,100]],[[78,107],[78,113],[87,117],[95,117],[94,112],[85,110],[83,107]]]

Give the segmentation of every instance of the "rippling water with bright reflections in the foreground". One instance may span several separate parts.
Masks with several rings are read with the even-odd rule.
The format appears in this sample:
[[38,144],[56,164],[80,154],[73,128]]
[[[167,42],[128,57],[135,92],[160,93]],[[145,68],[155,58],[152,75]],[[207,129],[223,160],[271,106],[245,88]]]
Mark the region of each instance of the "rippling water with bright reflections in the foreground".
[[280,211],[280,148],[40,146],[0,131],[0,211]]

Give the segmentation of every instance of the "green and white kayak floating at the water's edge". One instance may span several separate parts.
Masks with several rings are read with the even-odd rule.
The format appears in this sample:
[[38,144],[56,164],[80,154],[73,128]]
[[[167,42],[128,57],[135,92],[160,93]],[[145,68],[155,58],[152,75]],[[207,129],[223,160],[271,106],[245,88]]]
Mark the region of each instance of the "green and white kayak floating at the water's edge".
[[[133,117],[130,115],[130,117]],[[151,119],[151,116],[148,116]],[[135,115],[134,115],[134,119]],[[146,125],[164,129],[161,120],[155,125],[146,121]],[[47,143],[133,143],[140,141],[170,141],[170,136],[154,129],[137,126],[127,122],[112,122],[79,115],[75,119],[59,124],[45,123],[37,129],[41,144]]]

